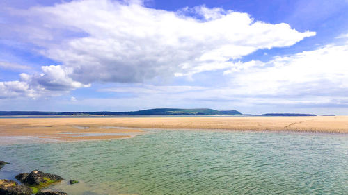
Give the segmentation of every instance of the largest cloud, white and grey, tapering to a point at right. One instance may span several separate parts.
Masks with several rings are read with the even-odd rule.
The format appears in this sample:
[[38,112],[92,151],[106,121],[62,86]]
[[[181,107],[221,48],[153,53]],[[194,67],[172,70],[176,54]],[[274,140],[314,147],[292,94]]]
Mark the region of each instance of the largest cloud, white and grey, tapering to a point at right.
[[[188,14],[191,10],[194,16]],[[42,55],[71,69],[70,78],[84,85],[225,69],[230,60],[258,49],[291,46],[315,35],[222,8],[170,12],[139,1],[72,1],[11,14],[25,23],[20,31],[10,26],[6,35],[15,33],[40,46]]]

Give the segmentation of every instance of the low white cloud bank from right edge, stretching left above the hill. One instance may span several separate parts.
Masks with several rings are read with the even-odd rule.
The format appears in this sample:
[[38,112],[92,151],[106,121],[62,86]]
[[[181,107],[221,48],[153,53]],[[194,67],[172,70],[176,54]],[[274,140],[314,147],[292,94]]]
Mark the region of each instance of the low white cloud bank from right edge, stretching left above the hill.
[[237,62],[224,71],[228,83],[219,87],[121,85],[102,91],[132,94],[120,96],[119,106],[139,102],[150,105],[147,108],[160,103],[162,107],[243,108],[253,113],[253,109],[262,106],[275,107],[274,110],[292,108],[292,112],[335,108],[331,109],[335,112],[336,108],[348,108],[347,62],[348,44],[329,44],[313,51],[276,56],[268,62]]

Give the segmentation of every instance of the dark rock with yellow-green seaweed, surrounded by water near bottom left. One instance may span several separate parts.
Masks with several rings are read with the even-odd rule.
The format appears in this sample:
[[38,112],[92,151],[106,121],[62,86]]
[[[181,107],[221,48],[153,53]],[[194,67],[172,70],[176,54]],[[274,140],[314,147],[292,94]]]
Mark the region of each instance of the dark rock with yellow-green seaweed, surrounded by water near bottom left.
[[50,173],[44,173],[42,171],[34,170],[28,173],[21,173],[16,176],[16,179],[25,185],[33,185],[33,186],[45,186],[50,183],[54,183],[60,180],[63,180],[61,176],[57,176]]

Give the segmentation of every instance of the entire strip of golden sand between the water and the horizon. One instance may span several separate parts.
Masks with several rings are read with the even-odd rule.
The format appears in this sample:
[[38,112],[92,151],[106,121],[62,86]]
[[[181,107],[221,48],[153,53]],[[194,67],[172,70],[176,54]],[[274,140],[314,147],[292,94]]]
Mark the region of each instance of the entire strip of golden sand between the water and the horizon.
[[127,138],[143,133],[144,128],[348,133],[348,116],[0,119],[0,137],[63,141]]

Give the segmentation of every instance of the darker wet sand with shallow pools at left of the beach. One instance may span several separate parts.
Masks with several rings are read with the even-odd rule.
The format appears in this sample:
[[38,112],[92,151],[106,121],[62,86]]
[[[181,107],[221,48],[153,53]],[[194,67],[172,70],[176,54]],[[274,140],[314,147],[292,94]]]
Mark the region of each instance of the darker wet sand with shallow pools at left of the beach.
[[120,139],[145,133],[141,129],[109,126],[102,121],[96,124],[94,119],[0,119],[0,144]]

